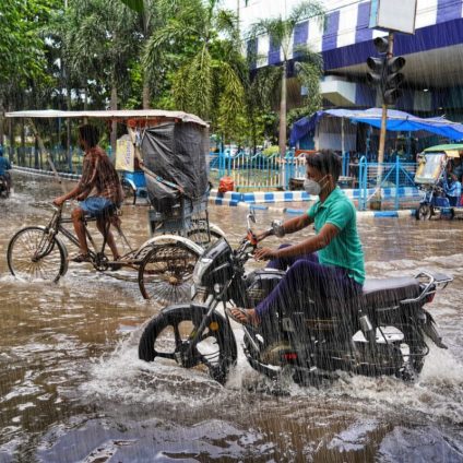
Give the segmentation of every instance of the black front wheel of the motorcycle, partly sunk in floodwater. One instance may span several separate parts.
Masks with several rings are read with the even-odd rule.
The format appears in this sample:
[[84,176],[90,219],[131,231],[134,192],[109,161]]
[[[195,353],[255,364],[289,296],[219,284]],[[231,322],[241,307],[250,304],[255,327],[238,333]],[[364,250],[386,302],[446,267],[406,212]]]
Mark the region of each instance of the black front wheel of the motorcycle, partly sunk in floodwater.
[[187,355],[188,339],[201,324],[206,307],[182,305],[168,308],[150,321],[139,343],[139,358],[153,361],[156,357],[192,368],[204,365],[211,377],[224,383],[229,368],[236,363],[237,348],[233,331],[219,313],[213,313],[201,341]]

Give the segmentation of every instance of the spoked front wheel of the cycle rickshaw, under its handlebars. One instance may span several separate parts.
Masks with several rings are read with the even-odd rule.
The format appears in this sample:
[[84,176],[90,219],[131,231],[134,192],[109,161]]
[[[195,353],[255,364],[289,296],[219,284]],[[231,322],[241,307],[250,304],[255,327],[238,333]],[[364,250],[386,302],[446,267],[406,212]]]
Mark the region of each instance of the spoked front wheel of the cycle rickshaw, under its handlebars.
[[10,272],[25,281],[58,282],[67,269],[66,249],[41,227],[26,227],[17,232],[8,245],[7,261]]

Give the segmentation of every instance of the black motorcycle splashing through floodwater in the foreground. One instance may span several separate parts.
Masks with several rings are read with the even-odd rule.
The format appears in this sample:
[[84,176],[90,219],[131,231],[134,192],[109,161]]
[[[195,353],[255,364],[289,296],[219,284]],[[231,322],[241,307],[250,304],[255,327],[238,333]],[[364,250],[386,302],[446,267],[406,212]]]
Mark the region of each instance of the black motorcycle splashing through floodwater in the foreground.
[[[237,249],[222,238],[205,250],[194,268],[191,301],[166,307],[147,323],[139,344],[141,359],[202,365],[213,379],[226,381],[237,343],[227,312],[218,311],[221,302],[256,307],[285,275],[273,269],[246,274],[257,248],[251,221],[252,214]],[[266,235],[280,230],[281,223],[273,223]],[[289,373],[296,383],[317,384],[336,378],[337,370],[413,380],[429,352],[425,336],[447,348],[425,306],[452,280],[422,271],[415,277],[367,280],[363,294],[351,300],[316,302],[307,295],[305,307],[274,314],[271,334],[263,327],[242,325],[244,353],[253,369],[272,380]]]

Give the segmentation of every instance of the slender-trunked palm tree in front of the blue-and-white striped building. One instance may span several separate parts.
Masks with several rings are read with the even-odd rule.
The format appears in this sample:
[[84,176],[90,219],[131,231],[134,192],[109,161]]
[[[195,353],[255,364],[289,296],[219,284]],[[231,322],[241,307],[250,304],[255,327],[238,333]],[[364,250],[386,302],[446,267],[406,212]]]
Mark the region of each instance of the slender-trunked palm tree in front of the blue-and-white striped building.
[[[261,20],[256,23],[250,32],[249,38],[256,40],[260,35],[268,35],[272,43],[282,50],[282,63],[278,66],[281,95],[280,95],[280,154],[283,157],[286,152],[286,106],[287,106],[287,66],[290,59],[290,38],[298,23],[308,17],[317,17],[324,23],[324,9],[317,0],[304,1],[295,7],[287,19],[282,16],[275,19]],[[321,75],[321,57],[310,50],[308,46],[299,46],[295,50],[295,57],[301,63],[299,64],[299,78],[308,82],[313,82],[313,75],[317,81]],[[275,82],[275,75],[271,73],[271,82]],[[316,90],[316,85],[311,85]],[[313,95],[312,95],[313,96]]]

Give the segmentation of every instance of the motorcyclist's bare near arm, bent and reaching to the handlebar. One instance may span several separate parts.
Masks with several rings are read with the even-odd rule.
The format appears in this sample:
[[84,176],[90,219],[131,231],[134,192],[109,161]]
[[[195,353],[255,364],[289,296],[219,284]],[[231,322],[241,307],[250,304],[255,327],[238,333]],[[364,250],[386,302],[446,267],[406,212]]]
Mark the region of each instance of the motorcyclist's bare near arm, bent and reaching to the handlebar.
[[[297,217],[298,218],[298,217]],[[256,260],[260,259],[278,259],[289,258],[301,254],[309,254],[325,248],[333,238],[340,233],[339,228],[333,224],[323,225],[320,233],[316,236],[305,239],[297,245],[282,249],[261,248],[254,252]]]

